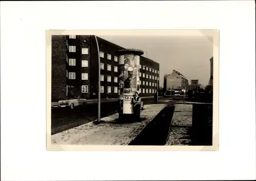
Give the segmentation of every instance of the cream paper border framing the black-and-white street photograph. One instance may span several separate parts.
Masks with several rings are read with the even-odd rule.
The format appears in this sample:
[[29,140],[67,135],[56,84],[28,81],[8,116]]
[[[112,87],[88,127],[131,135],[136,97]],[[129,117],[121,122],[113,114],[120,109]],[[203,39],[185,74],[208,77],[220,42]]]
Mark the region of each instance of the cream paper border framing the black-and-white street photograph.
[[[119,145],[66,145],[51,143],[51,36],[52,35],[132,35],[132,36],[207,36],[212,37],[214,56],[214,97],[212,146],[119,146]],[[49,151],[215,151],[219,150],[219,30],[47,30],[46,31],[46,114],[47,150]],[[210,59],[211,57],[209,57]],[[207,60],[205,60],[207,61]]]

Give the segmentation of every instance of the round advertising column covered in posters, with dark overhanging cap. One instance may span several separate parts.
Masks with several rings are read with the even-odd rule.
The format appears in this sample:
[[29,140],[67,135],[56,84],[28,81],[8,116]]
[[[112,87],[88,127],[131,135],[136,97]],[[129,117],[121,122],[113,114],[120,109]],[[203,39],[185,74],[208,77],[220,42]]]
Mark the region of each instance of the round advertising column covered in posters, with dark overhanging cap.
[[119,115],[134,114],[133,98],[135,93],[140,94],[139,70],[140,56],[143,51],[140,50],[120,50],[117,52],[118,57],[118,101]]

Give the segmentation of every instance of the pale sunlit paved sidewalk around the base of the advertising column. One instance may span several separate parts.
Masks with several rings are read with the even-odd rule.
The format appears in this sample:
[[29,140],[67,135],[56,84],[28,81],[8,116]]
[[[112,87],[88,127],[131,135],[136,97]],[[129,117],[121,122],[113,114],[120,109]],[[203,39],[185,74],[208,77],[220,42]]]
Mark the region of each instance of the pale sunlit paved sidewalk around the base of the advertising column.
[[92,122],[51,136],[52,145],[128,145],[150,123],[166,104],[145,105],[141,122],[118,123],[118,114],[102,118],[106,123]]

